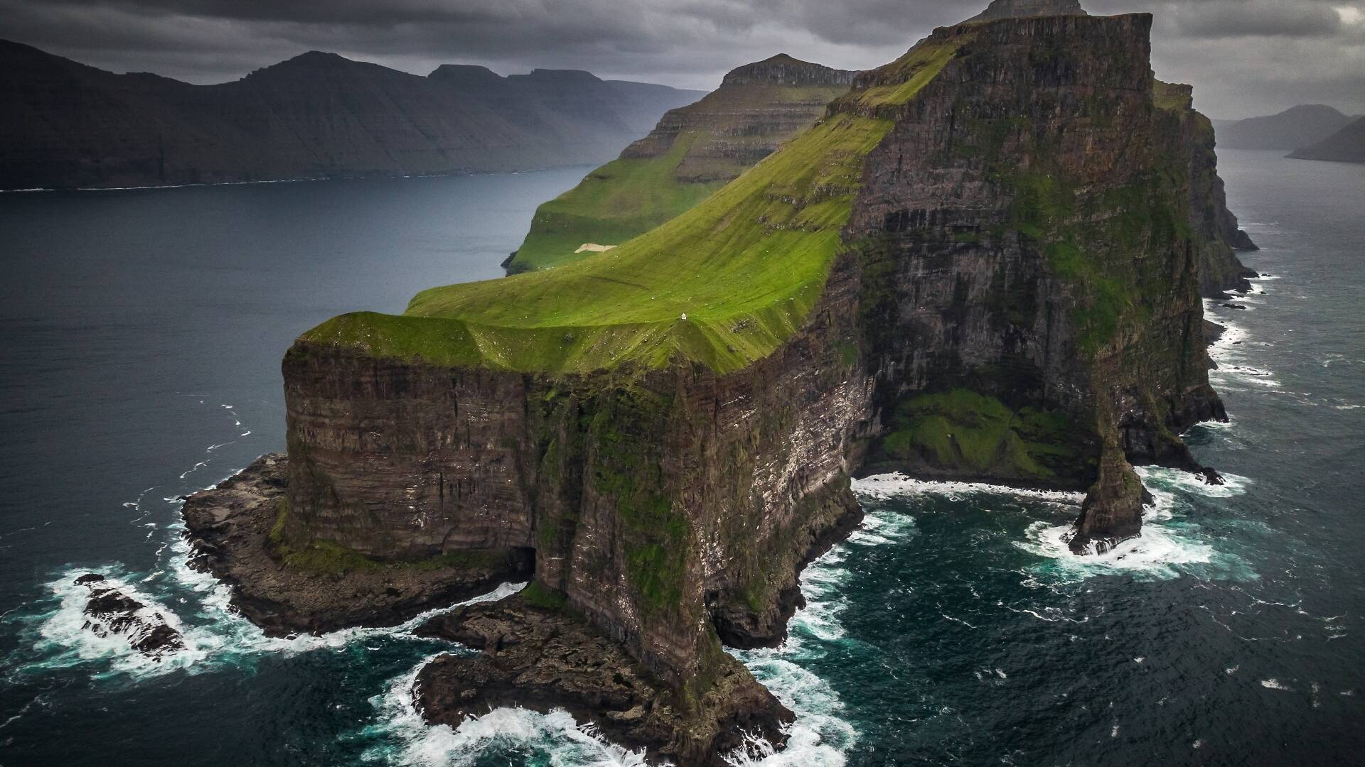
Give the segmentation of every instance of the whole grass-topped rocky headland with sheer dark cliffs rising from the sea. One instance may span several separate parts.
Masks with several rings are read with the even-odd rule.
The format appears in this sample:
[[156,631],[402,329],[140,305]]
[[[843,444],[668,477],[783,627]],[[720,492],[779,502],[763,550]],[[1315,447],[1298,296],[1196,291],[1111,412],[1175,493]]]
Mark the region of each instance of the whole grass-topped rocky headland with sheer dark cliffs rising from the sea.
[[938,29],[620,247],[308,330],[266,550],[527,553],[521,595],[429,624],[482,652],[422,671],[423,715],[562,706],[687,767],[782,741],[722,646],[782,640],[852,476],[1088,490],[1073,549],[1138,535],[1133,464],[1203,472],[1201,293],[1245,277],[1149,29]]

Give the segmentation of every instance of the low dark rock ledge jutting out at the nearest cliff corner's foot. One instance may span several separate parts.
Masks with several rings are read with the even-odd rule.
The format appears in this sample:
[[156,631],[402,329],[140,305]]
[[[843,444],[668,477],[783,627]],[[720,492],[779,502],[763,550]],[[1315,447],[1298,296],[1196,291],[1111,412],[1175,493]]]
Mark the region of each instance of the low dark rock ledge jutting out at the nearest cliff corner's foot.
[[[545,595],[541,595],[542,599]],[[793,717],[744,666],[721,654],[702,699],[680,699],[603,633],[553,598],[526,595],[459,607],[416,632],[457,641],[478,655],[441,655],[418,674],[414,703],[431,722],[457,726],[501,706],[562,708],[614,742],[646,749],[651,762],[723,767],[721,755],[751,738],[786,742]]]

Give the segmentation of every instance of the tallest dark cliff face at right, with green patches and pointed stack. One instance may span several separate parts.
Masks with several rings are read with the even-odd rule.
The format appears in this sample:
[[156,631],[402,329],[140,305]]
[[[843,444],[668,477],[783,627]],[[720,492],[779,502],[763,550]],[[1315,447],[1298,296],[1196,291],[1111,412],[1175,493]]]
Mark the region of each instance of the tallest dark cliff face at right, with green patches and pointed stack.
[[906,106],[865,105],[897,127],[846,232],[879,276],[863,302],[887,427],[875,460],[1093,483],[1077,550],[1140,528],[1127,460],[1197,468],[1175,434],[1223,418],[1200,303],[1204,265],[1231,258],[1208,220],[1222,184],[1188,98],[1147,68],[1148,25],[995,22]]

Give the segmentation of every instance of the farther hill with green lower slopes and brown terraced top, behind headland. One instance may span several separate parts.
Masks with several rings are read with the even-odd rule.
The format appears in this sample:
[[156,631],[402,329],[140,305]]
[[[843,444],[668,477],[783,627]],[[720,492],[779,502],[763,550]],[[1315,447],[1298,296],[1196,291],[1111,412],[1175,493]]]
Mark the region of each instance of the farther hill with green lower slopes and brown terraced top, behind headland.
[[814,124],[853,72],[773,56],[726,75],[696,104],[673,109],[621,157],[541,205],[509,273],[584,258],[684,213]]

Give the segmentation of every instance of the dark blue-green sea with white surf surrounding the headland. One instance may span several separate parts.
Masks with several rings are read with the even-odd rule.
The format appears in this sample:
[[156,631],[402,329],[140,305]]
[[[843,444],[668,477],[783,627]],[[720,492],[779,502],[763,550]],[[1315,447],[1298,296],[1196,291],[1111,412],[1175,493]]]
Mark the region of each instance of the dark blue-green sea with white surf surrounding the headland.
[[[753,763],[1365,763],[1365,165],[1220,171],[1265,273],[1208,302],[1231,423],[1186,438],[1228,483],[1144,469],[1143,536],[1077,558],[1076,495],[859,482],[789,641],[737,654],[797,712]],[[581,173],[0,195],[0,766],[643,764],[566,714],[427,727],[449,646],[266,639],[179,538],[176,497],[283,449],[296,334],[500,276]],[[85,572],[187,650],[82,631]]]

